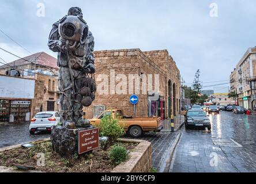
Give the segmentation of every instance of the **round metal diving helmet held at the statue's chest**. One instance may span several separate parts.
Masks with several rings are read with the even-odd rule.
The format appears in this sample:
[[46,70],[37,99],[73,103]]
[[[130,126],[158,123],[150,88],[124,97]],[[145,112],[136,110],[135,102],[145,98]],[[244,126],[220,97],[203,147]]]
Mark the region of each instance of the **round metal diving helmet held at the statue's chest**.
[[70,44],[84,44],[88,36],[88,25],[80,16],[65,16],[59,21],[60,40]]

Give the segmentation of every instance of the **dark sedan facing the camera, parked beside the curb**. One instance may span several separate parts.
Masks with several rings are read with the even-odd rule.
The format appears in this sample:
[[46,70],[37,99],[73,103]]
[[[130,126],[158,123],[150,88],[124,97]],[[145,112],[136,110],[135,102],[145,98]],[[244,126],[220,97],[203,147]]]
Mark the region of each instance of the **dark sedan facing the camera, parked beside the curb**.
[[188,110],[185,115],[185,128],[191,127],[207,127],[208,130],[212,129],[210,120],[205,114],[204,110]]

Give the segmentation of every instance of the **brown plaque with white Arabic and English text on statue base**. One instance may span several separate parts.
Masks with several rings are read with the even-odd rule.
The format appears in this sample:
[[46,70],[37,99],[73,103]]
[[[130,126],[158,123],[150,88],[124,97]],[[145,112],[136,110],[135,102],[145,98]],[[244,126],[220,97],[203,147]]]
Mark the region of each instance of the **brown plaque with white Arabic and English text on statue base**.
[[99,128],[78,132],[78,154],[99,148]]

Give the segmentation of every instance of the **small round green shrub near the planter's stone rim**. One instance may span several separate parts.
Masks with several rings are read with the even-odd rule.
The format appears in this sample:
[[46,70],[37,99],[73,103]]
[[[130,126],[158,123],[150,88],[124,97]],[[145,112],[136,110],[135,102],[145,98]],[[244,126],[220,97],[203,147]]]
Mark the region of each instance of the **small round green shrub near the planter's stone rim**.
[[128,158],[128,153],[125,147],[121,145],[116,145],[110,151],[110,160],[113,165],[118,165],[124,162]]

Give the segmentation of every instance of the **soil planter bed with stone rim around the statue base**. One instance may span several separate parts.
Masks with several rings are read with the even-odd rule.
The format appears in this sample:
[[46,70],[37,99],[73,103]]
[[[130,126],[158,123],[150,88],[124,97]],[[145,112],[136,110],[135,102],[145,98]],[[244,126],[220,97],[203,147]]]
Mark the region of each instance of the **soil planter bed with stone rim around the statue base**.
[[[1,172],[19,172],[14,165],[20,164],[24,166],[35,167],[33,172],[47,172],[47,173],[110,173],[110,172],[142,172],[150,171],[149,166],[151,164],[151,157],[148,158],[150,152],[151,155],[151,144],[147,141],[142,140],[128,140],[119,139],[118,144],[121,144],[127,150],[129,150],[129,159],[126,162],[121,163],[119,166],[113,166],[110,162],[108,151],[97,148],[93,152],[75,156],[71,161],[62,158],[56,152],[52,151],[52,145],[50,140],[42,140],[33,142],[34,147],[22,148],[20,145],[14,145],[8,148],[0,149],[0,173]],[[149,149],[150,148],[150,149]],[[143,151],[145,150],[145,151]],[[150,151],[149,151],[150,150]],[[45,166],[37,167],[37,154],[43,153],[45,157]],[[146,154],[146,155],[145,155]],[[144,159],[141,159],[143,158]],[[140,163],[141,160],[145,162],[145,159],[150,159],[148,167],[142,167],[144,163]],[[73,167],[70,167],[70,162],[73,162]],[[133,164],[130,164],[130,163]],[[123,166],[126,170],[122,170]],[[138,166],[135,166],[138,165]],[[142,166],[141,166],[142,165]],[[24,172],[24,171],[23,171]],[[31,171],[25,171],[31,172]]]

